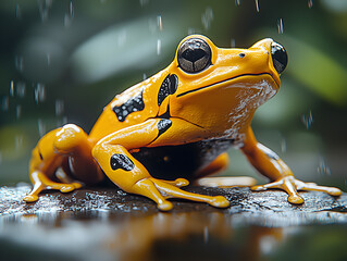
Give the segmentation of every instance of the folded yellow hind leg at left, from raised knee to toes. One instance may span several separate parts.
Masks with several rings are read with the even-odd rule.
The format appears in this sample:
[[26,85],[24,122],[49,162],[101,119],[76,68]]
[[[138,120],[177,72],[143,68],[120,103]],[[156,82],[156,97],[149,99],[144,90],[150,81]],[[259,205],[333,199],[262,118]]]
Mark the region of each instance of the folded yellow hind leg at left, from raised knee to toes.
[[[69,124],[45,135],[33,150],[29,177],[34,187],[24,201],[37,201],[44,189],[70,192],[80,188],[80,183],[59,171],[64,162],[70,163],[71,173],[78,179],[86,183],[100,181],[101,170],[92,159],[90,148],[87,134],[76,125]],[[80,178],[83,176],[85,179]],[[61,183],[54,182],[55,177]]]

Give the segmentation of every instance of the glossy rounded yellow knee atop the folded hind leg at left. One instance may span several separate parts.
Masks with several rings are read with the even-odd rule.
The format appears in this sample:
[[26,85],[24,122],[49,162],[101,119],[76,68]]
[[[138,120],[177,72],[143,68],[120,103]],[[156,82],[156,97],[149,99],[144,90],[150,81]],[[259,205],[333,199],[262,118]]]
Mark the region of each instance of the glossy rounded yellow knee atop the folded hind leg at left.
[[54,149],[69,153],[87,141],[87,134],[75,124],[66,124],[55,134]]

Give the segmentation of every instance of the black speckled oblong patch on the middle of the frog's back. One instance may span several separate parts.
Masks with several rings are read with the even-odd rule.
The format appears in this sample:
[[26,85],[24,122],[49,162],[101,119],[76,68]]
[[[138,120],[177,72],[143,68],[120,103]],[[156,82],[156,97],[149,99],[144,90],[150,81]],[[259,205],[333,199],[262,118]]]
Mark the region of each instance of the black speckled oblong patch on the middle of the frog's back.
[[142,94],[144,91],[135,97],[132,97],[122,105],[113,108],[113,111],[120,122],[124,122],[127,115],[132,112],[142,111],[145,109]]

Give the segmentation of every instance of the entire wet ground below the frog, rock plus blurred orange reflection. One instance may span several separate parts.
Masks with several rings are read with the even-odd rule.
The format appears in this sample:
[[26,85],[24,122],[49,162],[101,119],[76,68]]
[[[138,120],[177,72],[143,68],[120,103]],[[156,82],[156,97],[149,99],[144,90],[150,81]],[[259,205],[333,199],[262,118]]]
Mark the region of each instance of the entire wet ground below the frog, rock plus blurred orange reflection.
[[173,200],[163,213],[116,187],[47,192],[28,204],[29,188],[0,188],[5,260],[347,259],[346,194],[302,192],[306,203],[296,207],[282,191],[188,187],[224,195],[231,207]]

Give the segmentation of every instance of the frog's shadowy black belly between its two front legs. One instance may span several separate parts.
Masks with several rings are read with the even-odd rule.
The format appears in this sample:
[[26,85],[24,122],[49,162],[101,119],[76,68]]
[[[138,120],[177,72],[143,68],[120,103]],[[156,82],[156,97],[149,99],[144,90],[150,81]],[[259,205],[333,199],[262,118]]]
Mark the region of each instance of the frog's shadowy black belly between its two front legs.
[[157,178],[196,178],[196,173],[225,152],[232,139],[202,140],[178,146],[141,148],[133,156]]

